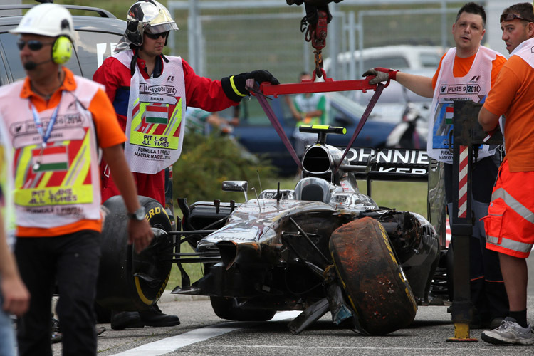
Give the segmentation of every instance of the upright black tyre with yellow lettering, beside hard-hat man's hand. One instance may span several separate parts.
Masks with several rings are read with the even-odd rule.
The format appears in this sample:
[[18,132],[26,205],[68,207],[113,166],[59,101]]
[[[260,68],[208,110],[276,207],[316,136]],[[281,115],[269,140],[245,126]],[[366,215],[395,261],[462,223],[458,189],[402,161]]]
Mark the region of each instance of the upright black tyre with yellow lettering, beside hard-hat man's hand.
[[139,197],[155,237],[141,253],[128,244],[127,211],[122,197],[103,204],[109,210],[102,232],[102,257],[96,303],[104,309],[146,310],[157,302],[169,281],[174,239],[171,222],[158,201]]

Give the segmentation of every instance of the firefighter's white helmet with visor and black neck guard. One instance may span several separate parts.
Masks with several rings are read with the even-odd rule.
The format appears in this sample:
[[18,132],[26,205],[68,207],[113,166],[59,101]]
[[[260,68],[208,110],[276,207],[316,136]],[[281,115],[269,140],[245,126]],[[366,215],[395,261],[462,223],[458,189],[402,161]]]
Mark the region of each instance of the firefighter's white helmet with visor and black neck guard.
[[128,10],[125,37],[135,46],[141,46],[143,33],[176,31],[178,26],[169,10],[155,0],[139,0]]

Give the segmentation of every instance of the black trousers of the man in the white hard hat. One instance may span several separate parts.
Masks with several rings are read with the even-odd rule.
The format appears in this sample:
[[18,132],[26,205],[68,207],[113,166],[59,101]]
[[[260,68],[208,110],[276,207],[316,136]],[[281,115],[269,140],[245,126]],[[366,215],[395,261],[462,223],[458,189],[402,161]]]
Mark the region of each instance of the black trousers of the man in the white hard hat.
[[100,233],[84,230],[54,237],[19,237],[15,256],[31,293],[30,308],[19,319],[19,355],[52,355],[51,299],[56,283],[63,355],[96,355],[93,305]]

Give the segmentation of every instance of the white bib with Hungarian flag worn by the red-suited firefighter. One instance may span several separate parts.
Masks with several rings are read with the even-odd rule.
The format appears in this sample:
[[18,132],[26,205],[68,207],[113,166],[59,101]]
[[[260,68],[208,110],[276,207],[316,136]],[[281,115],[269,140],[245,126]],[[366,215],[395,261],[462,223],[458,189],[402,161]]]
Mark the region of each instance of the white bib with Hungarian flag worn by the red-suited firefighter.
[[[132,51],[114,56],[130,68]],[[156,174],[177,161],[185,129],[185,79],[182,59],[167,57],[158,78],[145,79],[140,68],[130,80],[125,156],[132,172]]]

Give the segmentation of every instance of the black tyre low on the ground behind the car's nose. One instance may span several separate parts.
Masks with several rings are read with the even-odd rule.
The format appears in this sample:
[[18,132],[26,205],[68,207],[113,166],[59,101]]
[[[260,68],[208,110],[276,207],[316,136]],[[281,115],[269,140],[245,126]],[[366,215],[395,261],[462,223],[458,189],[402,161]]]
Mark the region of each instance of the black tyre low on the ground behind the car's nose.
[[234,305],[235,298],[209,297],[211,308],[219,318],[236,321],[271,320],[276,310],[239,308]]

